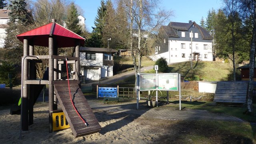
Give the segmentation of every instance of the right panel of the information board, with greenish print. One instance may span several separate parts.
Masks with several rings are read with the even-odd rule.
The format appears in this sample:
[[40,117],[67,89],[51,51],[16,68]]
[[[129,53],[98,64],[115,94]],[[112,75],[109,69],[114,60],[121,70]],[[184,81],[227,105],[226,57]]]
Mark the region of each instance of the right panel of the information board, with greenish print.
[[178,83],[178,73],[158,74],[158,90],[178,91]]

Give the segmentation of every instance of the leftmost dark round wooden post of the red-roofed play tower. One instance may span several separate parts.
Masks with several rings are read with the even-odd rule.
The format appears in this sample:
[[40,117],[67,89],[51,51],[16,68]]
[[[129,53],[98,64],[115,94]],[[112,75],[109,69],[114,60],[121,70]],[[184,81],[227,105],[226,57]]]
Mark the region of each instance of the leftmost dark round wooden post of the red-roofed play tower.
[[[28,56],[28,39],[23,40],[23,57]],[[28,60],[23,64],[23,82],[28,80]],[[22,91],[22,130],[28,130],[28,84],[23,85]]]

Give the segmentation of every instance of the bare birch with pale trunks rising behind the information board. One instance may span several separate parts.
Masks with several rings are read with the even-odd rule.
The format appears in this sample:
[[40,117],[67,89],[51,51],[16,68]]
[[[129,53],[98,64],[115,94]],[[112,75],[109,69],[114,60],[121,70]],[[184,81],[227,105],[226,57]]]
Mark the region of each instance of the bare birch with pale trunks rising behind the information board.
[[130,23],[129,44],[136,77],[141,70],[142,54],[147,47],[148,40],[172,16],[172,11],[161,10],[158,8],[158,3],[158,0],[126,1],[126,14]]

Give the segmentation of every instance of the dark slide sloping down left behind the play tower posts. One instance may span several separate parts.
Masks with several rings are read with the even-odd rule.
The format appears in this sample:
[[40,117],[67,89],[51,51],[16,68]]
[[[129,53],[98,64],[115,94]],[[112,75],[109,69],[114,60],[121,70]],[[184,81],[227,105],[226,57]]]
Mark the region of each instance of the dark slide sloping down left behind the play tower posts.
[[[44,76],[42,80],[48,80],[49,79],[49,71],[48,68],[47,70],[44,72]],[[38,96],[40,95],[40,93],[42,92],[43,88],[44,88],[45,84],[34,84],[32,85],[32,88],[34,89],[34,104],[36,103],[36,100],[38,98]],[[20,114],[20,106],[17,104],[14,104],[11,106],[10,108],[10,114]]]

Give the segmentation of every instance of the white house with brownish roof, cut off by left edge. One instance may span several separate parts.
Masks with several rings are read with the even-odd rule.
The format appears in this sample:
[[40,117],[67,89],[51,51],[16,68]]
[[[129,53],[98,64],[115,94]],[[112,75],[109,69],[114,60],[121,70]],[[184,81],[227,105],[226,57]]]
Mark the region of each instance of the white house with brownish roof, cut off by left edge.
[[6,37],[6,28],[8,27],[9,16],[7,8],[0,9],[0,48],[4,47],[4,38]]

